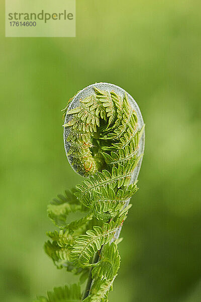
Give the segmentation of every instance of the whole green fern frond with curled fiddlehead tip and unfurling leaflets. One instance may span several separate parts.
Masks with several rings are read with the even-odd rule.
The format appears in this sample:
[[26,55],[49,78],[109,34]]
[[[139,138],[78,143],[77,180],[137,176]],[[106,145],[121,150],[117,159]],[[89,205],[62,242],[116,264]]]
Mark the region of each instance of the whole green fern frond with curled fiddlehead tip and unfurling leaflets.
[[[138,190],[144,122],[134,99],[108,83],[78,92],[63,111],[66,155],[85,179],[48,206],[58,230],[47,233],[45,251],[57,268],[80,277],[37,301],[106,302],[120,267],[120,231]],[[68,215],[77,211],[81,218],[69,223]]]

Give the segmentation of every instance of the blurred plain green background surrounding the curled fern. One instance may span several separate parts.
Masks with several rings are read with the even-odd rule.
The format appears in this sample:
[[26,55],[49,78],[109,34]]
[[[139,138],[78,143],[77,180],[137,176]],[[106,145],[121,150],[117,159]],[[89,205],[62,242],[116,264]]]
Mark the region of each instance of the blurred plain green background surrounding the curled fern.
[[146,123],[110,301],[200,301],[200,1],[77,0],[76,38],[5,38],[0,6],[1,301],[74,281],[43,251],[46,207],[81,181],[60,110],[95,82],[127,90]]

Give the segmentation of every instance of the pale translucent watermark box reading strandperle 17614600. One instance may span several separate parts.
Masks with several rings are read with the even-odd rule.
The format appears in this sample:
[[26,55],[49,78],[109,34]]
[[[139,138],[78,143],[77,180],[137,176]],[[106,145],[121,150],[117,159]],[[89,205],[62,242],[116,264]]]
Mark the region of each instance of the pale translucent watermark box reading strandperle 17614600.
[[75,37],[75,0],[6,0],[6,37]]

